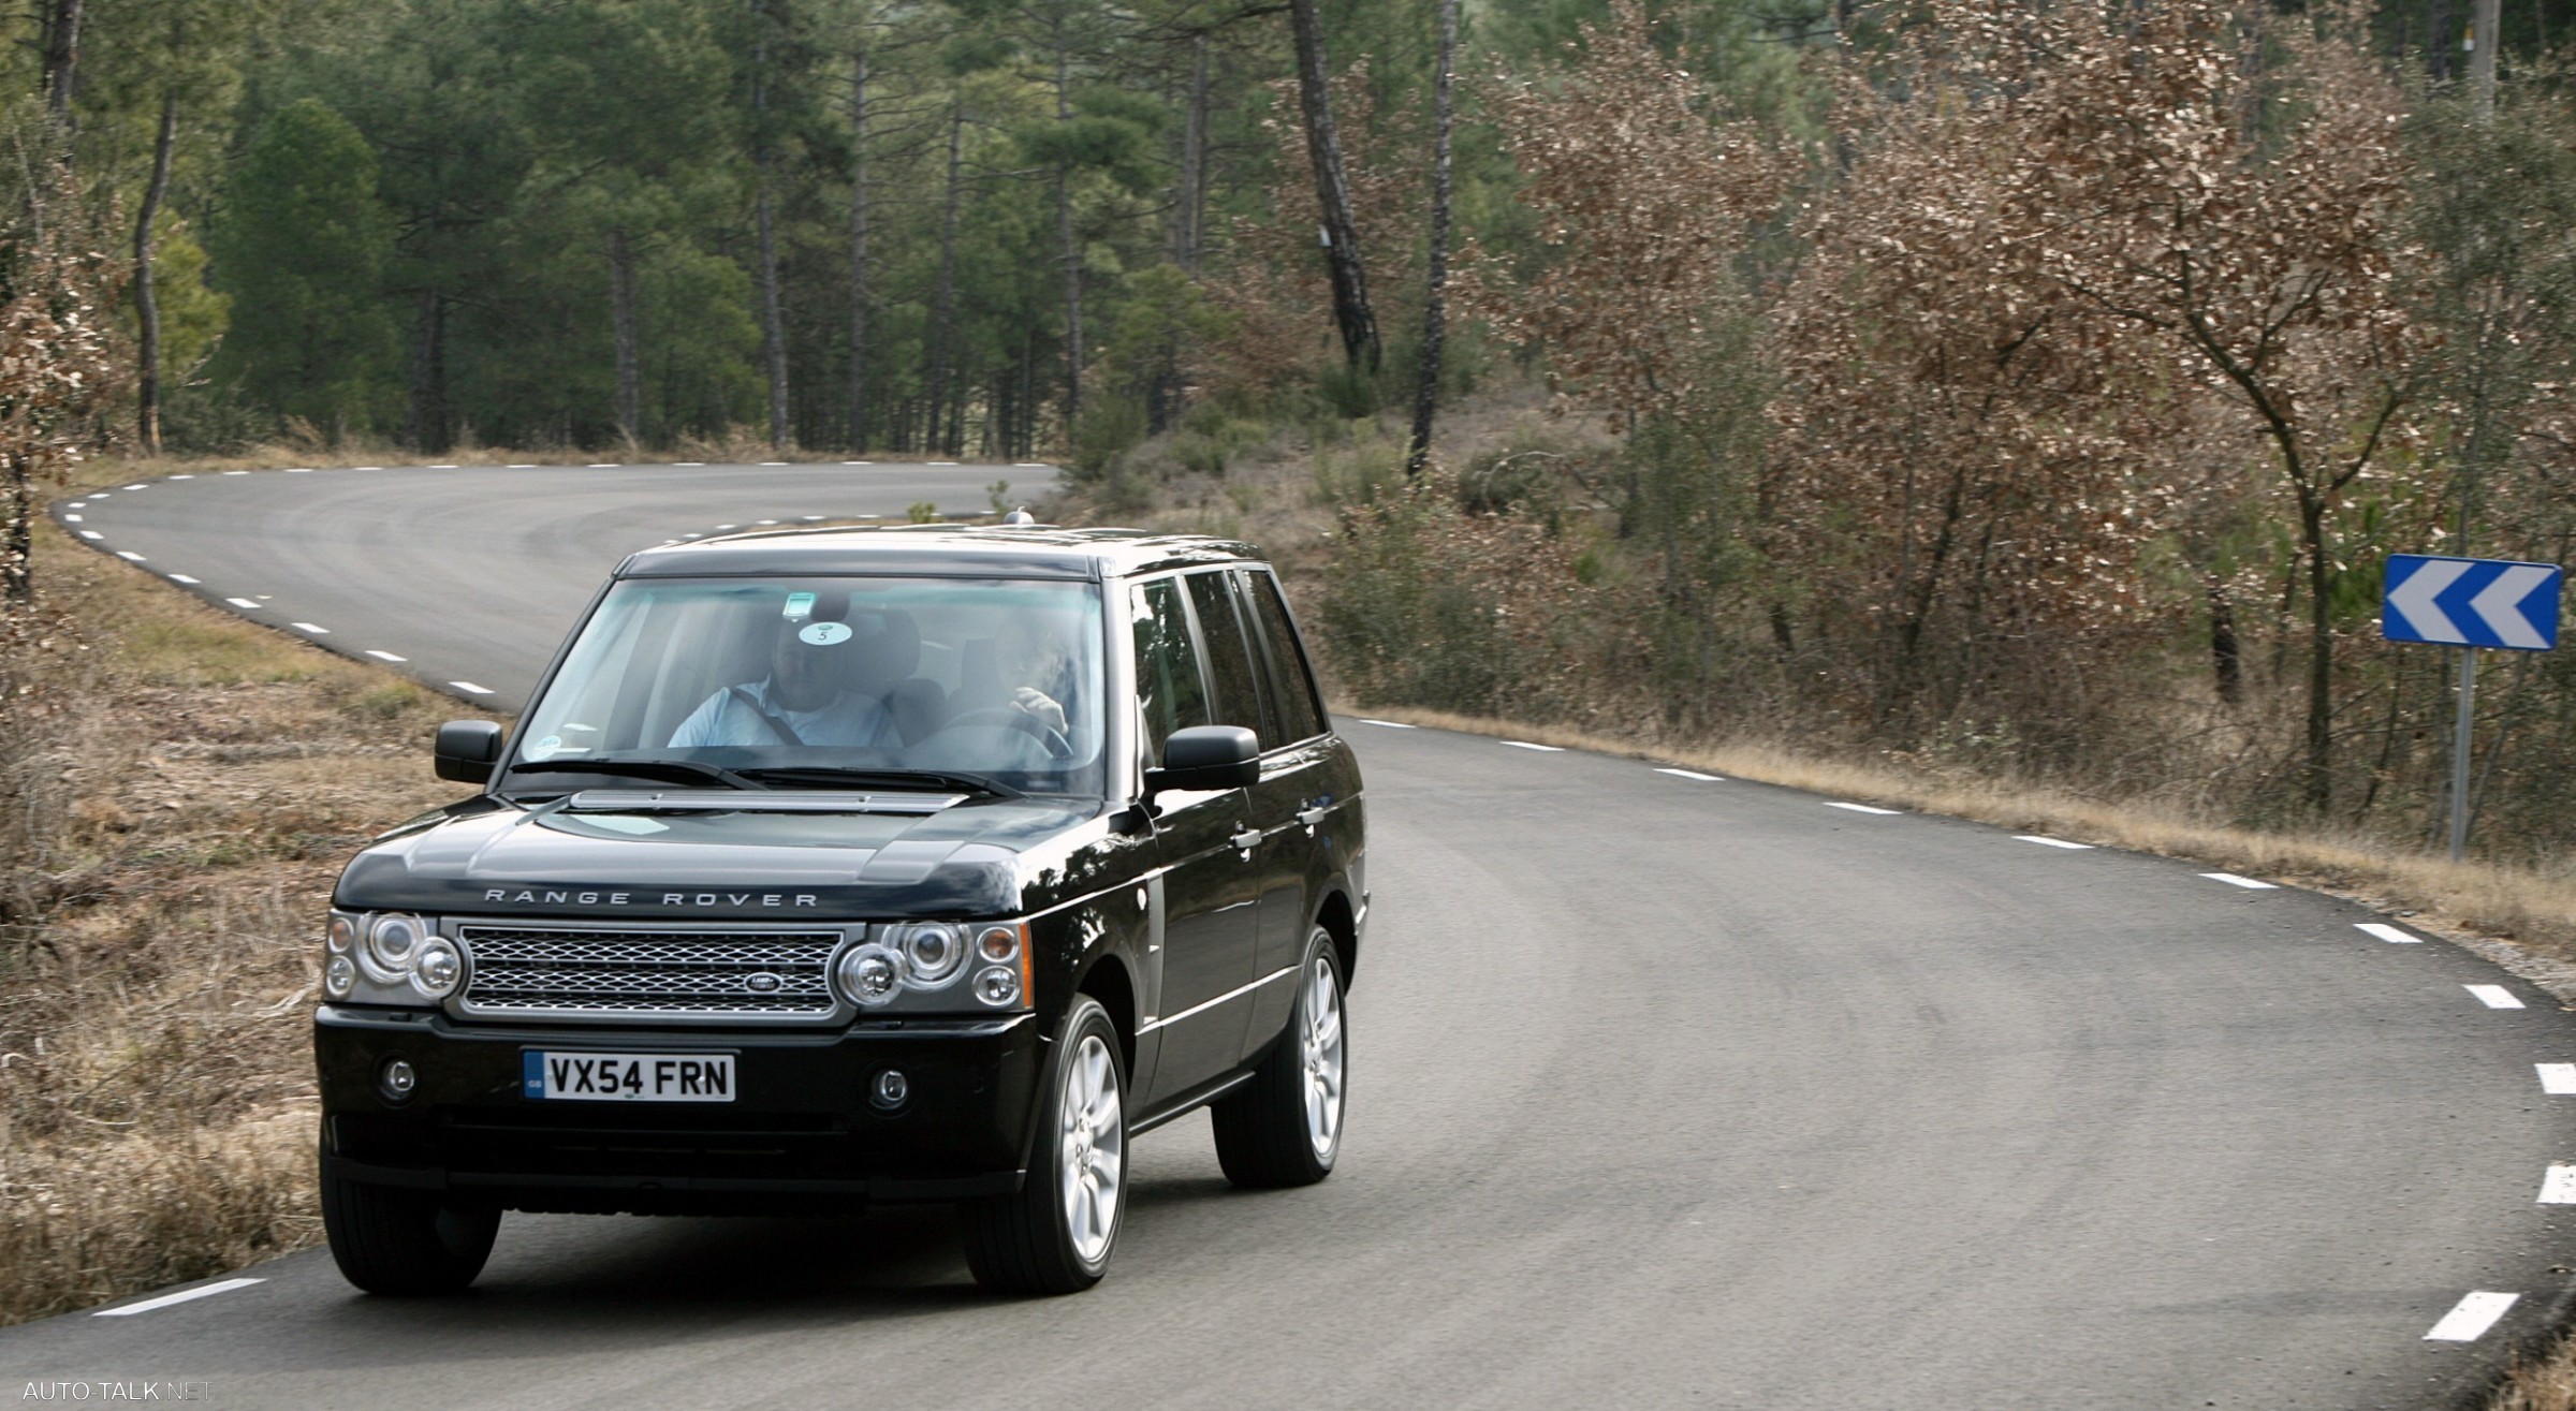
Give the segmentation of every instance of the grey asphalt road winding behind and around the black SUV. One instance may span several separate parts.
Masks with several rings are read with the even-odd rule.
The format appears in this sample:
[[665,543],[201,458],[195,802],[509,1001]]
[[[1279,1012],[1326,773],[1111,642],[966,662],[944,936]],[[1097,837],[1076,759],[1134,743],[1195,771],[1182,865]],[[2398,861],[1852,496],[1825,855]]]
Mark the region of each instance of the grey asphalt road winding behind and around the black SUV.
[[[335,636],[510,703],[631,546],[585,536],[634,538],[636,497],[680,481],[559,474],[528,500],[551,525],[492,533],[526,515],[453,510],[474,505],[456,474],[276,476],[229,502],[152,487],[80,512],[106,548],[219,595],[340,579]],[[837,510],[750,476],[688,492],[706,500],[649,533]],[[294,564],[361,520],[404,528]],[[2537,1069],[2576,1063],[2576,1022],[2476,955],[2184,863],[1342,729],[1368,770],[1376,911],[1321,1187],[1234,1192],[1206,1120],[1175,1123],[1133,1148],[1110,1280],[1033,1303],[976,1295],[943,1213],[510,1215],[466,1298],[366,1298],[296,1254],[206,1298],[0,1331],[0,1388],[2419,1408],[2460,1403],[2576,1287],[2568,1205],[2540,1200],[2576,1164],[2576,1097]],[[2488,1321],[2501,1298],[2476,1295],[2514,1298]]]

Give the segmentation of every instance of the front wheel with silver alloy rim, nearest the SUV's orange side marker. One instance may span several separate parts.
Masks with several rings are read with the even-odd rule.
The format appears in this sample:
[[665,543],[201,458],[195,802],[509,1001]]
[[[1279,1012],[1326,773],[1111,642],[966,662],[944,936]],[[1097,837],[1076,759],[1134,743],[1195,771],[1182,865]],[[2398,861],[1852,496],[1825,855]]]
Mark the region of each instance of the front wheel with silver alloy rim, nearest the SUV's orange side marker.
[[966,1267],[987,1293],[1056,1295],[1100,1282],[1126,1223],[1126,1061],[1118,1027],[1077,996],[1046,1074],[1038,1141],[1015,1195],[958,1208]]

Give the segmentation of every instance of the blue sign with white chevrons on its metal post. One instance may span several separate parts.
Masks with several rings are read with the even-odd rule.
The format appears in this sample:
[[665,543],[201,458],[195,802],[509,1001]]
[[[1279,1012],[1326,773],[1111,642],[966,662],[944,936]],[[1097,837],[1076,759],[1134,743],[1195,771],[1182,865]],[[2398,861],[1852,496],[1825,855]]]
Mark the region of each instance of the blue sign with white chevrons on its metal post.
[[2450,726],[2450,860],[2468,852],[2468,736],[2476,721],[2478,649],[2558,646],[2558,564],[2391,554],[2380,579],[2380,636],[2460,649],[2460,700]]

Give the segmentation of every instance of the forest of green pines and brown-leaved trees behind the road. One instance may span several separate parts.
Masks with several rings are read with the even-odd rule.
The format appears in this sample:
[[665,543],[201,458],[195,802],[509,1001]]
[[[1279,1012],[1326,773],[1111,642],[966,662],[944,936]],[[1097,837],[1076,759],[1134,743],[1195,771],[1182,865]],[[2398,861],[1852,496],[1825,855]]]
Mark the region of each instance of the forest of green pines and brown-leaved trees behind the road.
[[[88,373],[0,389],[10,474],[1056,456],[1262,533],[1293,461],[1358,700],[2419,847],[2452,657],[2378,641],[2380,564],[2576,533],[2576,0],[2494,82],[2468,23],[36,0],[0,263]],[[1525,412],[1427,456],[1440,407]],[[2478,847],[2558,870],[2576,659],[2496,667]]]

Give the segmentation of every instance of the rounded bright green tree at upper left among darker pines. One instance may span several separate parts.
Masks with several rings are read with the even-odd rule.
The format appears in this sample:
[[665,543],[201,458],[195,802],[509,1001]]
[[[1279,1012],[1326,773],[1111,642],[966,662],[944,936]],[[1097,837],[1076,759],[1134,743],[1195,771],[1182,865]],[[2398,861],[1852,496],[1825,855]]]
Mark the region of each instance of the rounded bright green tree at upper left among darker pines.
[[242,154],[209,234],[232,332],[216,381],[332,433],[368,433],[394,409],[394,322],[381,281],[394,221],[376,198],[376,152],[319,98],[270,116]]

